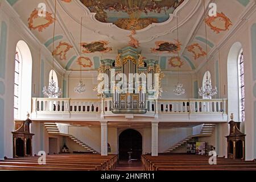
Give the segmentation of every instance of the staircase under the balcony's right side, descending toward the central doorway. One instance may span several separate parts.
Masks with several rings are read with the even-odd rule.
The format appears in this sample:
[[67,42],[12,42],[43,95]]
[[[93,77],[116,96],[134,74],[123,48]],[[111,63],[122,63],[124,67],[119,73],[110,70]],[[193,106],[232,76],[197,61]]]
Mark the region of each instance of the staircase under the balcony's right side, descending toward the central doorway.
[[213,134],[213,131],[215,129],[215,124],[203,124],[203,127],[201,128],[201,131],[199,134],[193,134],[191,136],[188,136],[187,138],[184,138],[180,142],[176,143],[174,146],[168,148],[164,153],[171,153],[177,150],[180,147],[183,147],[189,140],[192,140],[196,137],[210,137]]

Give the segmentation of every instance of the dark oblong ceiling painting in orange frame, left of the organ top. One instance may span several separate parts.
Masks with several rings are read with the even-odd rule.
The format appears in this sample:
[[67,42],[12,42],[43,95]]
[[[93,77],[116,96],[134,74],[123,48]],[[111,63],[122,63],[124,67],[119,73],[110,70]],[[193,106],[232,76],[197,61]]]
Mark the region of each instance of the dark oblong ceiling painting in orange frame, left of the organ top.
[[91,43],[81,43],[83,53],[101,52],[106,53],[112,51],[112,47],[108,47],[109,42],[105,40],[94,41]]

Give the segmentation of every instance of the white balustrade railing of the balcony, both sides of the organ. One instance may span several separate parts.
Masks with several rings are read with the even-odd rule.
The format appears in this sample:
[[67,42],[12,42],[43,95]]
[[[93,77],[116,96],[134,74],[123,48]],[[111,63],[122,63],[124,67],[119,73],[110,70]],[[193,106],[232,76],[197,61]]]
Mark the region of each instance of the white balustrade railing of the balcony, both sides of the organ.
[[[159,114],[227,114],[226,99],[187,99],[187,100],[147,100],[147,113],[152,117]],[[32,98],[32,119],[46,118],[44,115],[99,115],[115,116],[111,111],[112,98],[72,99],[72,98]],[[68,115],[68,116],[67,116]],[[207,115],[205,115],[206,117]]]

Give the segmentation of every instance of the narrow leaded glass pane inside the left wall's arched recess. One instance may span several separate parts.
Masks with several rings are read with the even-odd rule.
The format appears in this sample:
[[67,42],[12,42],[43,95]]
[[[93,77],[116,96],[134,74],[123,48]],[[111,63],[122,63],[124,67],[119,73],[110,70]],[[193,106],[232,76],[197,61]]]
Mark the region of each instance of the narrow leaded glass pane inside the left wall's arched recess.
[[15,54],[15,73],[14,73],[14,119],[19,118],[19,103],[20,103],[20,75],[22,71],[22,59],[18,48]]

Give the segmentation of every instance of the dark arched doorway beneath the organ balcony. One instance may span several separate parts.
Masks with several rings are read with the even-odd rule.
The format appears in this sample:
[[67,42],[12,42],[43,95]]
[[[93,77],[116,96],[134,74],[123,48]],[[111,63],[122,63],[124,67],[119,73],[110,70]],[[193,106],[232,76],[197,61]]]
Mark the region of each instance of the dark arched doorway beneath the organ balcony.
[[141,159],[142,135],[136,130],[127,129],[119,135],[119,159],[128,160],[132,152],[131,159]]

